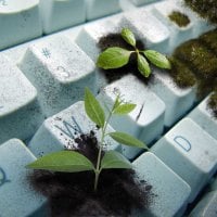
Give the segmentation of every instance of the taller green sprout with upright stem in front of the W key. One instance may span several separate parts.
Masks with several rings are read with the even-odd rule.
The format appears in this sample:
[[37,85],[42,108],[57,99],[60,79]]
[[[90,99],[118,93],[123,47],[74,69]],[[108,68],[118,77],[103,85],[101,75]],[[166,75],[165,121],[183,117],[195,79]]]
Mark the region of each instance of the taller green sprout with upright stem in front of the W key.
[[114,105],[108,111],[105,117],[105,112],[100,105],[99,101],[90,92],[88,88],[85,90],[85,111],[88,117],[100,127],[101,139],[99,141],[99,152],[97,165],[94,166],[90,159],[76,151],[60,151],[44,155],[31,164],[27,165],[33,169],[46,169],[52,171],[63,173],[78,173],[92,170],[94,173],[94,191],[98,189],[99,176],[103,169],[111,168],[132,168],[131,163],[116,151],[105,151],[103,154],[105,137],[112,137],[115,141],[141,149],[148,146],[138,139],[119,131],[107,132],[107,126],[113,115],[125,115],[130,113],[136,107],[131,103],[123,103],[119,97],[116,98]]

